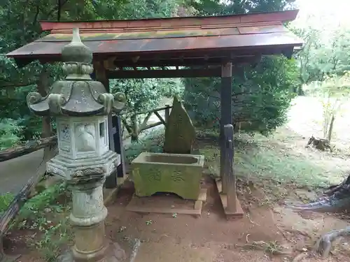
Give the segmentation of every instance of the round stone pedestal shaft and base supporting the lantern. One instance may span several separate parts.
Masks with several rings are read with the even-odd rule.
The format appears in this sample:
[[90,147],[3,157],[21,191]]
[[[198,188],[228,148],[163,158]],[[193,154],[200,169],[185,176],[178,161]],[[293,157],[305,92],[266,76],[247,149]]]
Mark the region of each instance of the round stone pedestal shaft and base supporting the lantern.
[[75,245],[70,252],[60,256],[58,261],[120,262],[126,258],[118,243],[105,237],[104,219],[107,209],[102,194],[103,184],[104,178],[96,182],[70,185],[73,195],[70,219],[75,228]]

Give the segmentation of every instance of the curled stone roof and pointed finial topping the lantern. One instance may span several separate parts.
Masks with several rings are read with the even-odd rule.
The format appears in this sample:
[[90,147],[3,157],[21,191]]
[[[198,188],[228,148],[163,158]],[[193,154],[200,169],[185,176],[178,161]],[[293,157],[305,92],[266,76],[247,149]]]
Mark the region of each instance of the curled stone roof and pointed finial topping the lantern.
[[126,98],[123,93],[114,96],[106,92],[102,82],[91,79],[94,68],[92,51],[84,45],[79,29],[73,29],[71,43],[62,48],[63,69],[66,79],[55,82],[48,96],[37,92],[27,96],[27,104],[36,115],[91,116],[109,115],[123,110]]

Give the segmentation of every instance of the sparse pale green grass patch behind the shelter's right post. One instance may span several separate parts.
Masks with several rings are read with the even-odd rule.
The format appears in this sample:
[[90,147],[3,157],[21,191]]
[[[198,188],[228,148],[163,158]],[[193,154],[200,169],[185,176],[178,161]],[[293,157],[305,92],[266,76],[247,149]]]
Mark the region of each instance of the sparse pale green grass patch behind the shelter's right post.
[[[203,136],[203,134],[202,134]],[[209,134],[212,137],[212,134]],[[274,184],[294,184],[295,187],[317,189],[338,180],[334,173],[310,159],[296,154],[272,141],[273,138],[242,134],[235,138],[235,174],[244,180],[269,180]],[[201,146],[206,164],[212,174],[219,175],[218,143]],[[339,178],[340,179],[340,178]]]

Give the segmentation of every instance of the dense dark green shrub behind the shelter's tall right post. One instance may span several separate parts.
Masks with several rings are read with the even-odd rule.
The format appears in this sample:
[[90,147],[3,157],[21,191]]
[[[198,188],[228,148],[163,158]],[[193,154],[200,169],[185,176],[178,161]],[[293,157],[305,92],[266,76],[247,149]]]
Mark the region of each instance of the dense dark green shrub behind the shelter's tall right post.
[[[267,134],[286,121],[293,90],[299,85],[295,61],[263,57],[257,66],[236,70],[232,82],[234,122],[242,129]],[[194,112],[200,126],[218,126],[220,119],[219,78],[186,80],[186,108]]]

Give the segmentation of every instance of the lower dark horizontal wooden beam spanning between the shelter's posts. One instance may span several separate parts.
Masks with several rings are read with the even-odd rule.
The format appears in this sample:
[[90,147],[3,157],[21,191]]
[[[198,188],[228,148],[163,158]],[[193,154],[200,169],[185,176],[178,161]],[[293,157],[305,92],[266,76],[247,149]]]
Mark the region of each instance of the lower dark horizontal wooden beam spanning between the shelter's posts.
[[179,69],[179,70],[125,70],[107,71],[109,79],[138,79],[138,78],[210,78],[220,77],[221,68]]

